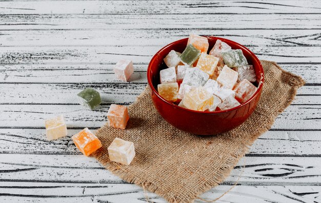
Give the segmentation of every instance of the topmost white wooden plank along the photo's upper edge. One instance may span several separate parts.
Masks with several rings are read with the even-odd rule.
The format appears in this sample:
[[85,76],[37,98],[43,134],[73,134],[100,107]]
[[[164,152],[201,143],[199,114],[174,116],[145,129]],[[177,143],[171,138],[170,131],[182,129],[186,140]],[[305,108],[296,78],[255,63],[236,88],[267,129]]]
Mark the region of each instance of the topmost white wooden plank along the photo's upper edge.
[[[74,5],[77,6],[74,6]],[[320,13],[317,1],[59,1],[2,2],[2,14],[193,14]]]

